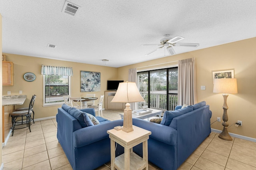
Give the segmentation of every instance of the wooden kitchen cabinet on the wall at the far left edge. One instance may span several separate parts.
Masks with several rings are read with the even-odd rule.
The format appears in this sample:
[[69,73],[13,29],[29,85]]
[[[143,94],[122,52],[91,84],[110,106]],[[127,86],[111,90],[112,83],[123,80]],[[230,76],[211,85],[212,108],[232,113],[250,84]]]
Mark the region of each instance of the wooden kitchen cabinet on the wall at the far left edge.
[[13,85],[13,63],[2,61],[2,85]]

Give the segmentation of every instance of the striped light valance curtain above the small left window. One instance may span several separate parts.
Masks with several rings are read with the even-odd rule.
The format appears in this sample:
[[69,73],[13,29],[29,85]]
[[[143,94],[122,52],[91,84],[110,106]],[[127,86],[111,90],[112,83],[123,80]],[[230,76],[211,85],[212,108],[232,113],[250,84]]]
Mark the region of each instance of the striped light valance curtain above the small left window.
[[41,74],[73,76],[73,69],[72,67],[55,67],[50,65],[42,65]]

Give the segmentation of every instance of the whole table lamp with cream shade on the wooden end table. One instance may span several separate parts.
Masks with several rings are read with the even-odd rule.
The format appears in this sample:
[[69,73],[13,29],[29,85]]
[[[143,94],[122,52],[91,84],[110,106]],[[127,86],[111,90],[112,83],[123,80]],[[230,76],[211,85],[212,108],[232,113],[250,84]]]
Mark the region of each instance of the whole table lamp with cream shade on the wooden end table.
[[119,83],[116,95],[111,102],[126,103],[126,108],[124,109],[124,126],[122,130],[124,132],[133,131],[132,128],[132,109],[130,108],[130,103],[145,101],[140,95],[138,87],[134,82],[123,82]]

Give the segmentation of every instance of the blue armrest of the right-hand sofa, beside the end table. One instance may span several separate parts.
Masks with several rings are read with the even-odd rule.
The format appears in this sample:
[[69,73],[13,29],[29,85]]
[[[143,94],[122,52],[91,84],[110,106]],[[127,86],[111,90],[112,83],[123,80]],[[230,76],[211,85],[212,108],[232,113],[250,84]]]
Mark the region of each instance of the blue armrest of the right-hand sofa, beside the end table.
[[150,138],[170,145],[175,145],[177,142],[177,130],[172,127],[136,118],[133,118],[132,122],[137,127],[151,131]]

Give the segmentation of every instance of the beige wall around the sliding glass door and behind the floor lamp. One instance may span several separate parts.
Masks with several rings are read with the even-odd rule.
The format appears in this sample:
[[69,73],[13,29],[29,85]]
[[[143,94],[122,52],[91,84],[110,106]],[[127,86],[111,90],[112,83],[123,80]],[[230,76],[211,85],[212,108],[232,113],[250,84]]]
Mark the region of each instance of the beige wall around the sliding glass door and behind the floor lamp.
[[[238,94],[230,94],[228,103],[228,123],[232,125],[238,120],[242,121],[242,127],[228,128],[231,133],[256,138],[256,38],[242,40],[234,43],[218,45],[206,49],[200,49],[189,53],[183,53],[128,65],[118,68],[117,79],[128,80],[128,69],[154,65],[160,63],[171,65],[180,59],[196,58],[197,97],[198,102],[206,101],[212,110],[211,123],[217,117],[222,118],[223,97],[221,94],[212,93],[212,71],[234,69],[234,77],[237,78]],[[174,61],[173,63],[170,63]],[[144,69],[143,68],[143,69]],[[140,68],[142,69],[142,68]],[[138,69],[138,70],[140,70]],[[206,90],[200,90],[205,85]],[[212,128],[222,130],[220,122],[211,125]]]

